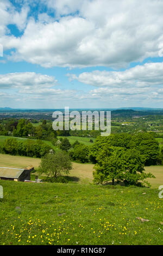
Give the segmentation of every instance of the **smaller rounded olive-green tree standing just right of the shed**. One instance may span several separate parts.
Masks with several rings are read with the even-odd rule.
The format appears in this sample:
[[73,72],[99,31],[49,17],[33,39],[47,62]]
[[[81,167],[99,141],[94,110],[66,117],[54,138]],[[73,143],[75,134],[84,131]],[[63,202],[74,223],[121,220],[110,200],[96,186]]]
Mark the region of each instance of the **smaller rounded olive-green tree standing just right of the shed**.
[[41,159],[39,169],[41,173],[57,178],[62,174],[68,174],[72,169],[72,163],[67,153],[62,151],[55,154],[46,154]]

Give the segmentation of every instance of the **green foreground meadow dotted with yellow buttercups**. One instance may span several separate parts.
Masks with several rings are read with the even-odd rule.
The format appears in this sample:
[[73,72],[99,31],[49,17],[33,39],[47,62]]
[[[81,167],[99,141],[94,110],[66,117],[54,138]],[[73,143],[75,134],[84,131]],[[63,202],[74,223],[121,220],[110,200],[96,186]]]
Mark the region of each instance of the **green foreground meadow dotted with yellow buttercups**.
[[1,245],[163,244],[158,190],[14,181],[0,185]]

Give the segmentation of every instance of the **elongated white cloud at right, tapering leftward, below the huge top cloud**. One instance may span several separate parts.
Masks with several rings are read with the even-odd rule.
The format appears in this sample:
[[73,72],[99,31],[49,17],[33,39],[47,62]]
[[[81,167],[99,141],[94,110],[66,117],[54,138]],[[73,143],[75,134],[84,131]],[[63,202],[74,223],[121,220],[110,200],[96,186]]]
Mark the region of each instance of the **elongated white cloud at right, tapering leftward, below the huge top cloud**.
[[124,88],[137,87],[145,88],[149,86],[163,85],[163,62],[146,63],[137,65],[125,71],[92,71],[83,72],[79,76],[67,74],[70,80],[90,84],[96,87]]

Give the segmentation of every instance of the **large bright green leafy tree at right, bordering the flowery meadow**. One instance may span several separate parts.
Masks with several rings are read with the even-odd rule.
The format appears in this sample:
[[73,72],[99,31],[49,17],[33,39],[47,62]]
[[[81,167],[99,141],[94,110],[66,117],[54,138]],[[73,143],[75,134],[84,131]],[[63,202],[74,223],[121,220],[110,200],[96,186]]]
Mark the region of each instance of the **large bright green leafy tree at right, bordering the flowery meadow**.
[[[144,172],[145,160],[136,149],[109,147],[106,145],[96,158],[94,182],[103,184],[115,179],[125,185],[139,185],[146,178],[155,178],[151,173]],[[147,181],[144,181],[147,183]],[[148,184],[149,185],[149,184]]]

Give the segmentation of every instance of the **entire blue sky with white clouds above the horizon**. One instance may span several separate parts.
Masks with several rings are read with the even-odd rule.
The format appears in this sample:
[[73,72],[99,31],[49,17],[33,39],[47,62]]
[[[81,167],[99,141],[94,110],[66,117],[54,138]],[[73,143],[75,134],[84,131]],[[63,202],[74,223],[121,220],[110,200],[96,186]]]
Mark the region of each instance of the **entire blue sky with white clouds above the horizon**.
[[162,0],[0,0],[0,107],[163,108]]

